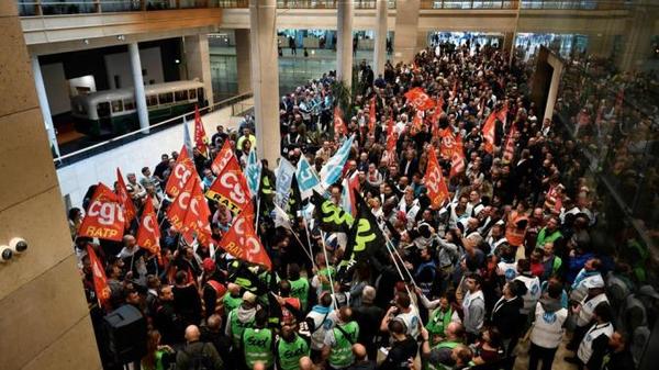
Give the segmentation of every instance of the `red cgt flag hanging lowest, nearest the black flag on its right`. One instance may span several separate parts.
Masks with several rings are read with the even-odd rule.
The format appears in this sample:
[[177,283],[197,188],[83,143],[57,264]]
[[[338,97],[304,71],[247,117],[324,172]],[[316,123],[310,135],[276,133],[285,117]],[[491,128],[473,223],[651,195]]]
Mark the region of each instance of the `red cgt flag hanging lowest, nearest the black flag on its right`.
[[254,224],[246,216],[244,212],[241,212],[228,232],[222,237],[220,247],[237,259],[264,265],[271,270],[270,257],[256,236]]

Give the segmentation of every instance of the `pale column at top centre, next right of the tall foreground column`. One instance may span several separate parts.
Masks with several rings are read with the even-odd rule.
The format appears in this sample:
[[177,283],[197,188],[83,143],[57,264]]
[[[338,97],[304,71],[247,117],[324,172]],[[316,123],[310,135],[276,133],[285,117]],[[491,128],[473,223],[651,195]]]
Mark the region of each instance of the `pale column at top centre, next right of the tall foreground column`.
[[336,77],[349,89],[353,85],[353,0],[338,0],[336,7]]

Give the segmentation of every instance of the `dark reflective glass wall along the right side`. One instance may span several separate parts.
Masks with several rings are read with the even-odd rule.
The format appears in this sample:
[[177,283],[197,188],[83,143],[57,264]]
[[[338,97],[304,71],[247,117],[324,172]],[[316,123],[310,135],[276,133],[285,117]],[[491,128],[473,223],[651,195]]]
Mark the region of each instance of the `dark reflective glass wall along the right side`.
[[[543,18],[536,9],[615,9],[616,15]],[[573,162],[561,181],[570,201],[593,211],[595,248],[634,268],[638,284],[656,283],[659,260],[659,3],[656,1],[523,1],[515,64],[533,90],[540,46],[563,65],[554,125]],[[525,30],[526,29],[526,30]]]

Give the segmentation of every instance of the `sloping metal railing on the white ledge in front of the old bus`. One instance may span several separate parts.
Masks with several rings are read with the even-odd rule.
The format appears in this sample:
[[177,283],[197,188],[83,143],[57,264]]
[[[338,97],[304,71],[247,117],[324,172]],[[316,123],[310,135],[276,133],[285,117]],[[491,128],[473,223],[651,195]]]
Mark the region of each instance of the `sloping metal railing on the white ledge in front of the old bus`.
[[[226,108],[226,106],[231,106],[232,113],[234,112],[234,104],[241,104],[241,109],[244,109],[244,103],[243,101],[246,99],[249,99],[254,96],[253,92],[245,92],[242,93],[239,96],[230,98],[230,99],[225,99],[222,101],[219,101],[212,105],[208,105],[204,108],[200,108],[199,112],[201,114],[203,113],[210,113],[213,112],[217,109],[222,109],[222,108]],[[232,114],[233,115],[233,114]],[[194,111],[190,111],[188,113],[183,113],[181,115],[177,115],[175,117],[171,119],[167,119],[163,122],[158,122],[156,124],[149,125],[148,130],[149,133],[148,134],[143,134],[143,128],[138,128],[136,131],[120,135],[120,136],[115,136],[112,137],[110,139],[107,139],[104,142],[98,143],[98,144],[93,144],[91,146],[85,147],[80,150],[76,150],[72,153],[68,153],[65,154],[63,156],[58,156],[56,158],[53,159],[53,161],[55,162],[55,166],[58,168],[62,168],[64,166],[68,166],[71,165],[78,160],[82,160],[85,158],[89,158],[98,153],[101,153],[103,150],[109,150],[109,149],[113,149],[115,147],[119,147],[121,145],[134,142],[136,139],[139,139],[144,136],[139,136],[139,135],[149,135],[149,134],[154,134],[156,132],[160,132],[165,128],[167,128],[168,126],[172,126],[176,123],[179,122],[187,122],[189,120],[194,120]]]

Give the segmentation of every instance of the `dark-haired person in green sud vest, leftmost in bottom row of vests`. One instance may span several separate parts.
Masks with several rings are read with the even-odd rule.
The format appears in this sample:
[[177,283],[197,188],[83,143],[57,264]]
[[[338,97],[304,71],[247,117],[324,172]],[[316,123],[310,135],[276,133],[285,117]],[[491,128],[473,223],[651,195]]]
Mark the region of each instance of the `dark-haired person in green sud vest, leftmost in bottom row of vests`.
[[253,369],[256,362],[261,362],[265,369],[275,366],[275,334],[267,328],[268,312],[258,310],[254,315],[255,327],[247,327],[243,332],[243,354],[247,369]]

